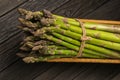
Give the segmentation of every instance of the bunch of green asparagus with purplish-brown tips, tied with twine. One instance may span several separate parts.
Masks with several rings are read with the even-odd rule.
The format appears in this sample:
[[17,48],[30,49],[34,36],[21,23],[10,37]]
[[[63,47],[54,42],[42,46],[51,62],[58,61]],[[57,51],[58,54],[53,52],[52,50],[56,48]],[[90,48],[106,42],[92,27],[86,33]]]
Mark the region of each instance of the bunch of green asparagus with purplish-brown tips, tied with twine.
[[[82,42],[79,21],[52,14],[50,11],[18,9],[22,18],[18,26],[25,32],[21,43],[23,61],[34,63],[49,59],[76,57]],[[86,36],[81,56],[84,58],[120,58],[120,25],[84,22]]]

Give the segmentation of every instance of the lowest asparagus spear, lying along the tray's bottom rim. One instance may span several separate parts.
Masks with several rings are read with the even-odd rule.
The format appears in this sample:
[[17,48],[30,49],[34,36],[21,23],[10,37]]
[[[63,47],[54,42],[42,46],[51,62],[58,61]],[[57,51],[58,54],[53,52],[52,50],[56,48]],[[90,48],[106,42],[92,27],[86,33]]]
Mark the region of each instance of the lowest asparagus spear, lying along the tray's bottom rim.
[[[56,51],[56,53],[59,51]],[[61,52],[71,52],[71,50],[67,50],[64,51],[62,50]],[[53,56],[40,56],[40,57],[32,57],[32,56],[28,56],[23,58],[23,61],[26,63],[35,63],[35,62],[40,62],[40,61],[48,61],[48,60],[52,60],[52,59],[56,59],[56,58],[71,58],[71,57],[75,57],[75,55],[53,55]],[[99,56],[95,56],[95,55],[91,55],[91,54],[83,54],[83,57],[85,58],[101,58]]]

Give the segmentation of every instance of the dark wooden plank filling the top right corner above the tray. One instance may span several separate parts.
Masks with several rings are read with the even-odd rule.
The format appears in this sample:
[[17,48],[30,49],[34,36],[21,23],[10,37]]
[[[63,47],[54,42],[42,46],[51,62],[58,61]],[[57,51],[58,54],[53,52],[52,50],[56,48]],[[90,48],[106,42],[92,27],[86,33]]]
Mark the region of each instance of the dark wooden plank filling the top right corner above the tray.
[[110,0],[107,4],[88,14],[85,18],[120,20],[120,1]]

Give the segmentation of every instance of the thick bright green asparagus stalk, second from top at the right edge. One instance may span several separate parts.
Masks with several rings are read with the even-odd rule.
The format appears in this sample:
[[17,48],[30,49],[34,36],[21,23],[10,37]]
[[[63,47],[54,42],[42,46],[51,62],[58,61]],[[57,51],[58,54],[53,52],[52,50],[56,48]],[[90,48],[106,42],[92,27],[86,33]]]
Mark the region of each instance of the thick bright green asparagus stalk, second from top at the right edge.
[[[54,23],[55,25],[58,25],[61,28],[68,29],[73,32],[82,34],[82,29],[80,26],[74,26],[70,24],[66,26],[66,24],[63,23],[62,20],[55,20]],[[109,33],[109,32],[104,32],[104,31],[86,29],[86,35],[97,38],[97,39],[103,39],[107,41],[120,43],[120,37],[119,37],[120,34],[116,34],[116,33]]]

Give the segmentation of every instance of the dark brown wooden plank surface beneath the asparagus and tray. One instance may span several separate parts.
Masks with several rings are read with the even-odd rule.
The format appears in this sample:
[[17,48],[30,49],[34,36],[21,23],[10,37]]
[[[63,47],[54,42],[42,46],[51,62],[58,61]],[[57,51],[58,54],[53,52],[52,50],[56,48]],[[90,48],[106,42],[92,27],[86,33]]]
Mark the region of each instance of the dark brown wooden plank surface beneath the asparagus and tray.
[[15,54],[23,33],[17,8],[67,17],[120,21],[119,0],[0,0],[0,80],[119,80],[120,64],[25,64]]

